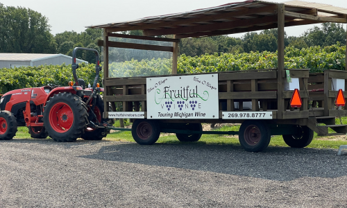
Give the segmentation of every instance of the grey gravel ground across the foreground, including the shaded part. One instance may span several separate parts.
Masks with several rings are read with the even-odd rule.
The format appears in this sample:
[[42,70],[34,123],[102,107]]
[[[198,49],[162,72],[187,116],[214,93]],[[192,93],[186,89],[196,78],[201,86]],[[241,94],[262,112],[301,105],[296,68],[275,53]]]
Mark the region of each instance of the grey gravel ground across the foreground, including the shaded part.
[[337,150],[0,141],[0,207],[347,207]]

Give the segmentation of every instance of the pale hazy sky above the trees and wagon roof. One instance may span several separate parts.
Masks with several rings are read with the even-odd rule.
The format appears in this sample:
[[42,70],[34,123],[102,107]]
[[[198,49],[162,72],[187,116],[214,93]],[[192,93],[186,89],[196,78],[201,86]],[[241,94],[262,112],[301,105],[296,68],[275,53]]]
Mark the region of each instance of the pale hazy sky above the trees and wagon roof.
[[[107,24],[142,17],[168,15],[240,1],[244,0],[0,0],[0,3],[3,3],[4,6],[21,6],[40,12],[49,19],[51,33],[56,35],[56,33],[64,31],[81,33],[85,31],[85,26],[93,24]],[[288,0],[272,2],[281,3],[285,1]],[[306,1],[347,8],[347,0]],[[314,25],[294,26],[285,28],[285,31],[289,36],[300,36],[308,28],[313,27]],[[239,33],[230,36],[241,37],[242,35],[244,34]]]

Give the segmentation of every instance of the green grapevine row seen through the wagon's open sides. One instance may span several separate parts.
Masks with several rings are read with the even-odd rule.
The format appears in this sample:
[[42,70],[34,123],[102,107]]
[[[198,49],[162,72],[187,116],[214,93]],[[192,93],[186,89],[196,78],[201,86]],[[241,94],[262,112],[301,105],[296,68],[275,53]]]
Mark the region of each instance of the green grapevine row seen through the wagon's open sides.
[[[325,69],[345,68],[346,46],[314,46],[285,49],[286,69],[311,69],[322,72]],[[217,71],[240,71],[249,69],[273,69],[277,67],[276,52],[214,53],[200,56],[180,55],[178,73],[206,73]],[[171,73],[171,59],[130,60],[110,64],[111,77],[153,76]]]

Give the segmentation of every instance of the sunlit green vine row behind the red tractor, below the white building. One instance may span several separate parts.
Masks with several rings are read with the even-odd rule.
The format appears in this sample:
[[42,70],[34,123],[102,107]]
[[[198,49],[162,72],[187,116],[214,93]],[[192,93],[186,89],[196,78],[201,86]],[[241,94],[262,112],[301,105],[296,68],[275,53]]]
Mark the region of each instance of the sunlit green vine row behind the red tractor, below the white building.
[[[90,83],[92,85],[95,78],[95,65],[80,64],[76,73],[78,78],[83,78],[86,84]],[[100,75],[102,78],[103,74],[100,73]],[[67,86],[69,81],[74,80],[71,64],[19,67],[15,69],[3,68],[0,70],[0,77],[0,94],[13,89],[42,87],[47,84]],[[101,83],[101,78],[99,83]]]

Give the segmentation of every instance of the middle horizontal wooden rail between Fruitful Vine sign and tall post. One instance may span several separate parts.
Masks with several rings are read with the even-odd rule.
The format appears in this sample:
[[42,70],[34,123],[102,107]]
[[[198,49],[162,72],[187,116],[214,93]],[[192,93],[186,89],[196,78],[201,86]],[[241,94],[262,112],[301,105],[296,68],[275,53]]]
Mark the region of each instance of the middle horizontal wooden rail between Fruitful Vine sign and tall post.
[[219,92],[219,99],[276,99],[276,91]]

